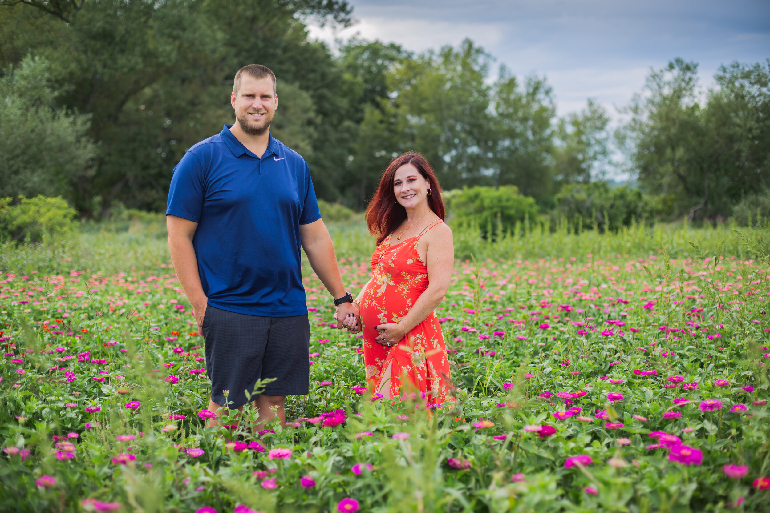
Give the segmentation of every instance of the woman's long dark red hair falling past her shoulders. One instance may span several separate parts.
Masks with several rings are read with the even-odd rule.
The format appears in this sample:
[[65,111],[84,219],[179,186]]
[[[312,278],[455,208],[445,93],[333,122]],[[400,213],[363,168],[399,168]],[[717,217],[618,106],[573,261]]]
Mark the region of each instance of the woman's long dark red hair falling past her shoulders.
[[400,157],[393,158],[387,166],[383,175],[380,177],[380,185],[377,192],[369,202],[367,207],[367,225],[369,233],[377,237],[377,245],[383,242],[388,234],[398,228],[402,222],[407,219],[407,209],[396,202],[396,195],[393,193],[393,176],[397,170],[403,166],[411,164],[420,175],[430,184],[430,196],[428,196],[428,206],[430,210],[444,221],[446,209],[444,208],[444,198],[441,197],[441,185],[434,174],[433,168],[430,168],[425,157],[419,153],[405,153]]

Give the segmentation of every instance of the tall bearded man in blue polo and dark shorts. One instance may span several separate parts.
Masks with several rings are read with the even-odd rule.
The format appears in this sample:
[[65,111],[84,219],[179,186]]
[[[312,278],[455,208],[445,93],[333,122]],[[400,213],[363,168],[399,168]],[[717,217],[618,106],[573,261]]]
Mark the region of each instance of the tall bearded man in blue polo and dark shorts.
[[[270,135],[276,77],[262,65],[236,73],[233,125],[192,146],[174,168],[166,225],[169,250],[206,340],[209,410],[239,408],[258,379],[258,424],[285,421],[286,395],[306,394],[310,323],[300,244],[336,304],[337,328],[354,315],[310,169]],[[275,408],[277,407],[277,408]]]

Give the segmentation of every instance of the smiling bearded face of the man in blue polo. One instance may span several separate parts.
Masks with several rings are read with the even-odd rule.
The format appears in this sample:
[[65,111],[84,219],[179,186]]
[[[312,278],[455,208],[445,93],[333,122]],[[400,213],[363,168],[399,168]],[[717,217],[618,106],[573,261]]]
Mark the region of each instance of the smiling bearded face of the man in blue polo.
[[249,135],[264,135],[273,122],[278,108],[278,96],[273,92],[273,80],[269,77],[241,77],[238,92],[230,95],[230,104],[236,112],[236,119],[243,132]]

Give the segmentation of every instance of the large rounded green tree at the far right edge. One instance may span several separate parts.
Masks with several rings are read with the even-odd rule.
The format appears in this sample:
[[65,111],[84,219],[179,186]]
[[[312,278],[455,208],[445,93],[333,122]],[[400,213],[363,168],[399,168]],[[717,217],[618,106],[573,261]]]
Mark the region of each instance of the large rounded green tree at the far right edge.
[[770,185],[770,62],[723,66],[698,102],[698,65],[675,59],[651,72],[618,140],[641,185],[673,215],[728,216],[743,195]]

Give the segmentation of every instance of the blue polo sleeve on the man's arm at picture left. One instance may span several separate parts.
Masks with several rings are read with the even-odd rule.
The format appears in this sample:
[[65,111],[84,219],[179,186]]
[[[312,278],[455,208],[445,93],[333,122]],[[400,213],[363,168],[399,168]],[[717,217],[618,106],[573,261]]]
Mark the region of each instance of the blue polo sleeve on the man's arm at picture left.
[[203,210],[203,183],[203,166],[195,154],[187,152],[171,176],[166,215],[200,222],[200,213]]

